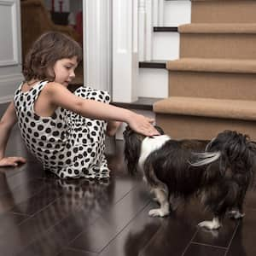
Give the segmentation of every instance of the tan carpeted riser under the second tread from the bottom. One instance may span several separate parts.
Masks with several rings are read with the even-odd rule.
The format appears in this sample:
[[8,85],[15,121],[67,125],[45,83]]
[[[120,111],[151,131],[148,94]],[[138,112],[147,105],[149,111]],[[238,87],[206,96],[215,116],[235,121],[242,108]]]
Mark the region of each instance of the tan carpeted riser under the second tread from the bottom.
[[169,96],[256,101],[256,74],[170,71]]

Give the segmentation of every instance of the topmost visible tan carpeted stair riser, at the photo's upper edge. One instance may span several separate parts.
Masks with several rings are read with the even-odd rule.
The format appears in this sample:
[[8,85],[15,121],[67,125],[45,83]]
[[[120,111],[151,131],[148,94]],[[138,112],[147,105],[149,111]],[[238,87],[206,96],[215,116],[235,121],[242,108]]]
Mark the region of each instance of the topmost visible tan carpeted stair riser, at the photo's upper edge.
[[255,13],[255,1],[192,2],[191,21],[195,23],[251,23],[256,22]]

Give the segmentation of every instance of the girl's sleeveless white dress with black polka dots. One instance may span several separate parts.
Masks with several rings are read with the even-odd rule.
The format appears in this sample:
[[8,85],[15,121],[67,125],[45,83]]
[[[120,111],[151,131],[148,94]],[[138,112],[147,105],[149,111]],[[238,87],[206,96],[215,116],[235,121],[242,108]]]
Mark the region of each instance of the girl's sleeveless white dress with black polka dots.
[[[47,81],[23,92],[15,91],[15,109],[21,136],[27,148],[44,164],[44,169],[58,177],[109,177],[104,155],[107,122],[88,119],[63,108],[51,117],[40,117],[34,103]],[[108,92],[79,87],[75,95],[109,103]],[[68,99],[67,99],[68,101]]]

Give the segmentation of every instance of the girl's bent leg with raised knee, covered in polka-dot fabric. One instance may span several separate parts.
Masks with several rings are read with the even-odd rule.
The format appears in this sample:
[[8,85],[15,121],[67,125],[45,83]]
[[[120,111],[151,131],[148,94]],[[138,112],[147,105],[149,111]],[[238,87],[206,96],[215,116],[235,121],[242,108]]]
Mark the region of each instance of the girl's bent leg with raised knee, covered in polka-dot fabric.
[[[108,92],[89,87],[79,87],[74,94],[99,102],[110,101]],[[84,118],[77,113],[67,115],[71,147],[68,150],[72,154],[72,164],[67,166],[66,177],[71,177],[68,173],[75,173],[76,177],[109,177],[108,163],[104,155],[107,122]]]

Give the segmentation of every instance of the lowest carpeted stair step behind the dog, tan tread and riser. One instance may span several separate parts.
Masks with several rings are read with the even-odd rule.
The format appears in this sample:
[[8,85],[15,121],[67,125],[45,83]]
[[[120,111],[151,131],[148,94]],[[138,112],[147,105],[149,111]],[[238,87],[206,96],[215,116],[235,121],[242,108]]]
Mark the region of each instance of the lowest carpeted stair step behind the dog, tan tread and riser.
[[212,139],[236,130],[256,139],[256,102],[175,97],[154,103],[157,125],[173,138]]

